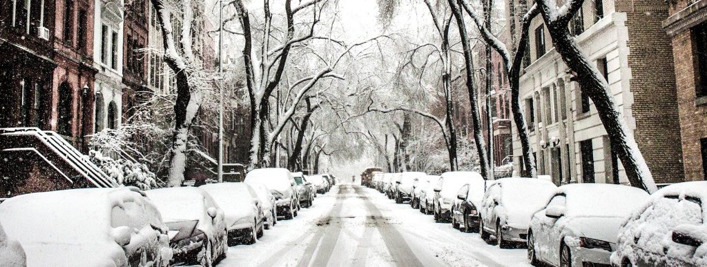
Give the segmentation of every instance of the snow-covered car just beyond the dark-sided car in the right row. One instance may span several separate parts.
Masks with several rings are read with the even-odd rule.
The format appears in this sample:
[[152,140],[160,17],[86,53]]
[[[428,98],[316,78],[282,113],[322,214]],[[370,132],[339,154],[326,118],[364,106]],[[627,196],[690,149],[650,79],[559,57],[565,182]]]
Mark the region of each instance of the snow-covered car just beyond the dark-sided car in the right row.
[[[452,220],[452,206],[457,199],[457,193],[464,184],[473,183],[479,179],[479,172],[445,172],[440,177],[434,191],[432,207],[436,222],[450,222]],[[483,180],[483,178],[481,178]],[[483,191],[483,189],[481,189]],[[480,199],[480,197],[479,197]]]

